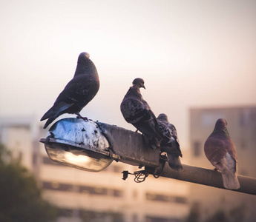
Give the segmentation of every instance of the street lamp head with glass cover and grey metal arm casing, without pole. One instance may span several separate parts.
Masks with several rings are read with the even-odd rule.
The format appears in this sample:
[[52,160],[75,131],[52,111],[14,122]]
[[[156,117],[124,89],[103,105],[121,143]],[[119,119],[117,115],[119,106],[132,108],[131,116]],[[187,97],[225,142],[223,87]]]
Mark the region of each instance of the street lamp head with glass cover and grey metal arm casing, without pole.
[[140,133],[109,124],[64,118],[40,141],[51,160],[86,171],[99,172],[114,160],[159,166],[160,151],[146,147]]

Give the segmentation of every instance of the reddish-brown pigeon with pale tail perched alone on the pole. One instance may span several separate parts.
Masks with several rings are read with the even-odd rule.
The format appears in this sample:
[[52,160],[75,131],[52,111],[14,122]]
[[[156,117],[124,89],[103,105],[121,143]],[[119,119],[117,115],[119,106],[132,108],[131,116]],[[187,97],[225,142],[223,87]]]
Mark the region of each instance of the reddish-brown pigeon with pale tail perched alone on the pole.
[[229,136],[227,121],[223,118],[217,120],[214,131],[207,138],[204,145],[206,158],[215,169],[219,170],[226,189],[239,189],[237,179],[237,152]]

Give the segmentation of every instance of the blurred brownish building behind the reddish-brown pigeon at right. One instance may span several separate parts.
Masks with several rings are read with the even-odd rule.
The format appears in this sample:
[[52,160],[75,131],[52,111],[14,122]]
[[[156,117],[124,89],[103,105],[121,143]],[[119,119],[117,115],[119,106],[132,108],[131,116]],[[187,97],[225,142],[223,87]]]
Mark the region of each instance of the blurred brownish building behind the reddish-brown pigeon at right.
[[[228,121],[229,135],[237,149],[238,174],[256,178],[256,106],[190,109],[191,165],[214,169],[203,146],[218,118]],[[197,205],[202,219],[217,210],[243,209],[246,221],[255,221],[254,195],[191,184],[191,202]]]

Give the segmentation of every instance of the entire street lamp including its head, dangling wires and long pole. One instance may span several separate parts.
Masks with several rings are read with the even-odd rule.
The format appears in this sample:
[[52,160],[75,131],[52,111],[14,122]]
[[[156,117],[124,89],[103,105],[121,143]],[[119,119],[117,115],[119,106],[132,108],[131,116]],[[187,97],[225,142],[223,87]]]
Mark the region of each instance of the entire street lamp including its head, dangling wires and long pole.
[[[149,148],[140,133],[80,118],[64,118],[50,127],[46,138],[40,141],[50,159],[86,171],[99,172],[112,161],[134,166],[145,166],[145,170],[134,172],[135,181],[142,182],[149,174],[160,175],[196,184],[224,189],[220,172],[183,164],[183,172],[171,169],[160,155],[160,149]],[[128,171],[123,172],[123,179]],[[238,175],[240,189],[256,195],[256,179]]]

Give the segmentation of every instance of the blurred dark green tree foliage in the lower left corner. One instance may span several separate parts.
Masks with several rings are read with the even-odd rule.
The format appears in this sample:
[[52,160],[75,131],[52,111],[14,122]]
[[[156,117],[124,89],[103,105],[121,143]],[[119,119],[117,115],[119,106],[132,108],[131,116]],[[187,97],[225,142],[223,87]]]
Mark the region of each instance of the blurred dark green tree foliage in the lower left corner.
[[56,221],[56,207],[42,199],[36,179],[0,144],[0,221]]

